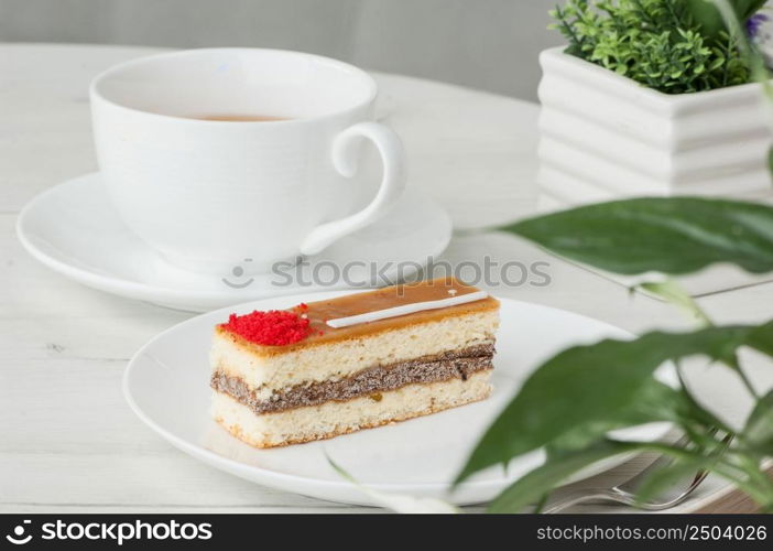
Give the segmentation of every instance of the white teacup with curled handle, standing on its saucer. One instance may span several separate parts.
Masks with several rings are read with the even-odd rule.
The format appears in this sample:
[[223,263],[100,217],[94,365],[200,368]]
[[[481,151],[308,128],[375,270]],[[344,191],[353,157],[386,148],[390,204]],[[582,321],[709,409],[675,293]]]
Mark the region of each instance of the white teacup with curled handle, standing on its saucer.
[[[91,83],[99,168],[123,222],[170,262],[266,271],[371,224],[401,195],[403,149],[372,121],[375,95],[357,67],[298,52],[211,48],[130,61]],[[233,115],[286,120],[197,118]],[[383,176],[352,214],[363,138]]]

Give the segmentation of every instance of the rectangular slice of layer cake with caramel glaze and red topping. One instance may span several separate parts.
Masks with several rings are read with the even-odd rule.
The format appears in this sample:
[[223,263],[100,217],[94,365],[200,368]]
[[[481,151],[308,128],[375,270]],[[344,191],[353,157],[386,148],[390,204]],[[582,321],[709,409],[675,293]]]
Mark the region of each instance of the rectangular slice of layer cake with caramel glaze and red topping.
[[447,279],[231,314],[215,327],[211,413],[272,447],[481,400],[498,323],[496,299]]

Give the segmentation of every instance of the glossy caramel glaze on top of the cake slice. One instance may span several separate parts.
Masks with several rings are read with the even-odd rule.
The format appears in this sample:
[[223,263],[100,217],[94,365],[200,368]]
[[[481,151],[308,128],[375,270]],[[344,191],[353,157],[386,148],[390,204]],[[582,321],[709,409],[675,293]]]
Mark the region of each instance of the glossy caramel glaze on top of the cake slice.
[[311,322],[309,327],[312,328],[309,336],[300,343],[286,346],[263,346],[250,343],[239,335],[228,332],[222,324],[218,325],[215,331],[228,335],[233,343],[249,347],[255,354],[273,356],[307,346],[324,345],[337,341],[368,336],[384,331],[406,327],[409,325],[433,322],[448,316],[467,315],[475,312],[497,310],[499,307],[499,301],[488,296],[479,301],[457,304],[455,306],[438,310],[423,310],[412,314],[360,323],[348,327],[333,328],[325,323],[328,320],[348,317],[416,302],[438,301],[477,291],[479,291],[478,288],[466,285],[455,279],[439,278],[418,283],[388,287],[364,293],[347,294],[328,301],[309,302],[304,305],[305,307],[295,306],[291,309],[291,311],[300,315],[308,316]]

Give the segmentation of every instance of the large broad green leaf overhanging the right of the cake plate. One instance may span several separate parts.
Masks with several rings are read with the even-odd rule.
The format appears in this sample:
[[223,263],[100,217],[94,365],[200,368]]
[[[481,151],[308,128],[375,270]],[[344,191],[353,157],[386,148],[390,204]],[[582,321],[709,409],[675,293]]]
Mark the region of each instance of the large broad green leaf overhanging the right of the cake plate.
[[[457,477],[460,483],[491,465],[578,434],[600,439],[610,425],[628,421],[652,388],[654,370],[667,360],[705,355],[734,357],[754,327],[708,327],[695,333],[649,333],[635,341],[607,339],[575,346],[537,368],[489,426]],[[641,403],[646,403],[642,400]],[[653,408],[651,408],[652,410]],[[654,408],[649,420],[671,420],[673,410]],[[569,436],[567,436],[569,435]]]

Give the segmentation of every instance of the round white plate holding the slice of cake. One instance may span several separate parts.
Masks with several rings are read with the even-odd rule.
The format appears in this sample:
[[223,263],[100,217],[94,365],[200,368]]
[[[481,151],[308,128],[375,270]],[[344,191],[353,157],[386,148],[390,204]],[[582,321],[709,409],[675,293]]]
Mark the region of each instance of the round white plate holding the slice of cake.
[[[156,336],[129,363],[123,392],[132,410],[174,446],[216,468],[248,480],[305,496],[346,504],[372,505],[368,496],[337,475],[329,455],[359,482],[382,491],[487,501],[512,480],[540,465],[541,453],[514,460],[508,473],[491,468],[450,496],[448,484],[462,466],[486,426],[512,398],[529,372],[560,349],[603,337],[631,335],[578,314],[503,300],[491,398],[433,415],[336,439],[273,450],[257,450],[230,436],[208,415],[213,326],[231,311],[283,309],[342,293],[271,299],[224,309],[183,322]],[[618,437],[656,440],[667,424],[618,431]],[[597,464],[583,477],[624,460]],[[577,478],[576,478],[577,479]]]

